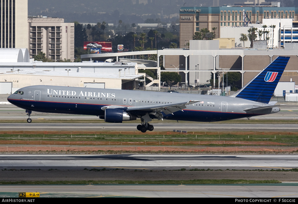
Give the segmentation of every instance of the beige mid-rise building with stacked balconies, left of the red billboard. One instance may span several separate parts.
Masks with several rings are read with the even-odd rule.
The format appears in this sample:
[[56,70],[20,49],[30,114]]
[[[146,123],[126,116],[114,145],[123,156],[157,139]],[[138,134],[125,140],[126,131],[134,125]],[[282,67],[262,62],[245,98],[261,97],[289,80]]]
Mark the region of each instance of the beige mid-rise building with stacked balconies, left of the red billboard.
[[43,52],[52,61],[75,57],[75,25],[63,18],[30,17],[30,57]]

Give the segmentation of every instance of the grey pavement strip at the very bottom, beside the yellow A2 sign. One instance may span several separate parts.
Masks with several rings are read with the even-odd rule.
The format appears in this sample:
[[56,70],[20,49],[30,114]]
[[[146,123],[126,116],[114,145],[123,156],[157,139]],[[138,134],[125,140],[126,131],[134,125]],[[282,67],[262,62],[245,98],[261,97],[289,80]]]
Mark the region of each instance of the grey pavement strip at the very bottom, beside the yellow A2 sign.
[[[230,198],[254,200],[268,198],[271,202],[291,199],[297,202],[297,184],[262,184],[262,185],[1,185],[0,194],[17,197],[17,192],[41,192],[40,197],[196,197],[196,198]],[[1,196],[0,196],[1,197]],[[266,200],[268,200],[266,199]],[[280,199],[280,200],[279,200]],[[38,199],[35,199],[37,202]],[[202,200],[201,200],[202,201]],[[203,200],[205,201],[205,200]],[[207,200],[206,200],[207,201]],[[267,201],[268,202],[268,201]]]

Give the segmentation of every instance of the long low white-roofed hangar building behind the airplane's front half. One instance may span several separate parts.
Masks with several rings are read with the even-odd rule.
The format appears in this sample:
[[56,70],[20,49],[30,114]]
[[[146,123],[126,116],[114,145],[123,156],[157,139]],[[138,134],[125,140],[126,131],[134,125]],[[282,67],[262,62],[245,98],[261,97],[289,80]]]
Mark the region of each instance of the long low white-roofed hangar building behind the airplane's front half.
[[10,94],[32,85],[133,90],[138,88],[139,81],[143,81],[139,79],[143,73],[138,73],[138,65],[130,62],[10,61],[0,65],[0,94]]

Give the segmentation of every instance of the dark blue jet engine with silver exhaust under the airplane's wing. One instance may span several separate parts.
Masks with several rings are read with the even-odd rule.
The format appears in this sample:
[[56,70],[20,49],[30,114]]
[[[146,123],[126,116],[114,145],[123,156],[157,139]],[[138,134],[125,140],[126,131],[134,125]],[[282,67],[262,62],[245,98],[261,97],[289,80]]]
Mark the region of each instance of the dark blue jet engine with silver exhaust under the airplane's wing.
[[122,123],[122,121],[136,120],[136,117],[131,116],[121,109],[105,109],[105,122],[108,123]]

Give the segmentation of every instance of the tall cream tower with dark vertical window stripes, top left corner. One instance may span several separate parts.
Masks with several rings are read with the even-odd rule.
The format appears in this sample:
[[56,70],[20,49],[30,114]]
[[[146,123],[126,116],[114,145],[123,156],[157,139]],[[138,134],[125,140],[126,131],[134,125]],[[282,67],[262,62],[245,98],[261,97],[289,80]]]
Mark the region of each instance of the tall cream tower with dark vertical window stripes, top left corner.
[[28,0],[0,0],[0,48],[28,48]]

